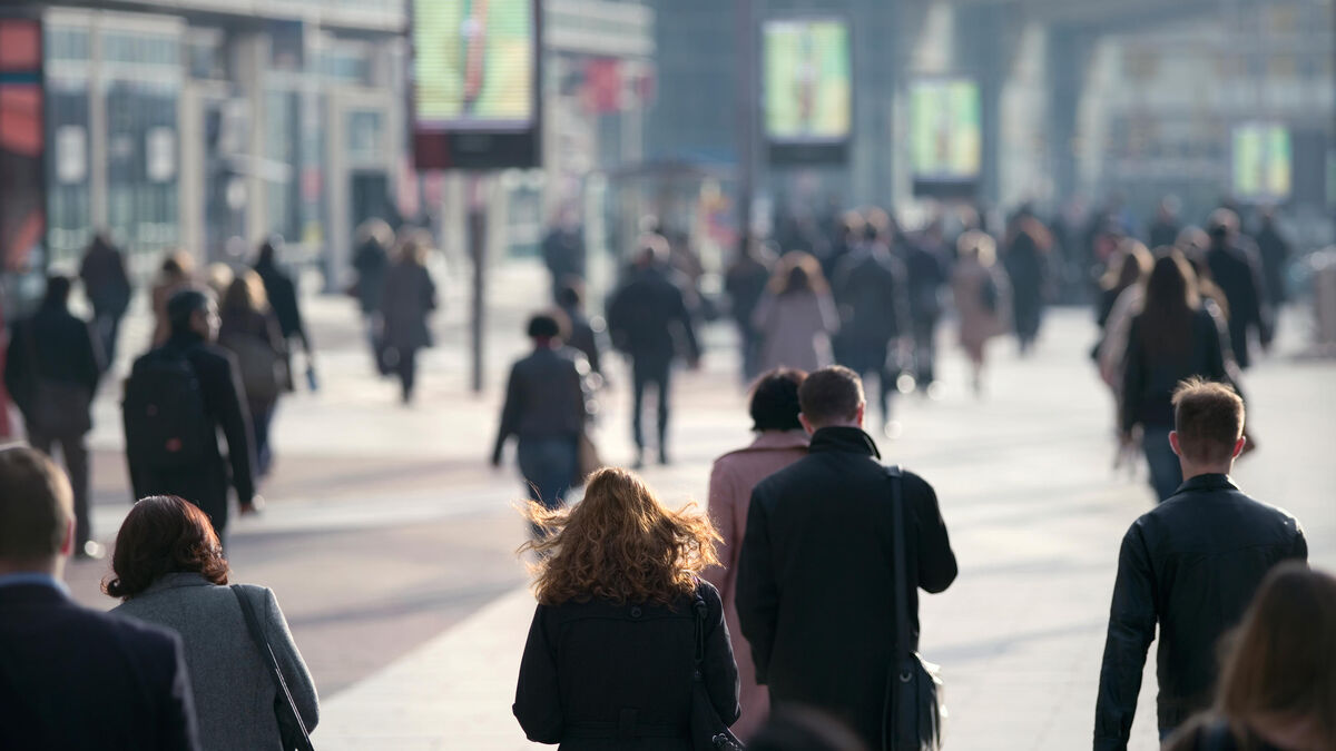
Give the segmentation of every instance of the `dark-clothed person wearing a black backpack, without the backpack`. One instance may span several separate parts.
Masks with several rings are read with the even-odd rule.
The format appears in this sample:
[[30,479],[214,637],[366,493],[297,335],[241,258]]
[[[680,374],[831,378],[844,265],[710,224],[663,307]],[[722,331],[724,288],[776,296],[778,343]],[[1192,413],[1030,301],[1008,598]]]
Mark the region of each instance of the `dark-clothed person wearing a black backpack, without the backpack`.
[[[204,441],[204,457],[196,466],[172,470],[154,469],[144,457],[127,450],[130,480],[136,498],[180,496],[195,504],[208,514],[219,539],[223,539],[230,486],[236,489],[236,501],[243,514],[257,508],[253,473],[255,448],[246,410],[246,392],[240,385],[236,358],[214,343],[219,318],[208,293],[195,289],[176,293],[167,302],[167,317],[171,321],[171,338],[135,361],[131,380],[136,377],[142,363],[151,359],[184,358],[199,381],[208,420],[206,432],[215,438]],[[227,438],[227,457],[218,450],[219,429]]]

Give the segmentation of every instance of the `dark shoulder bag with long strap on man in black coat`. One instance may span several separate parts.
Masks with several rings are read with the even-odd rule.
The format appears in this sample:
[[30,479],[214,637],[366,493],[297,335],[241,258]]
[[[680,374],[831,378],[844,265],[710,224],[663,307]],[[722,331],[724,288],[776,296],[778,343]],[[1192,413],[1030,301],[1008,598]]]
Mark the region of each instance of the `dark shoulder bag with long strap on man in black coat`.
[[899,466],[887,466],[891,478],[891,506],[895,528],[895,669],[886,682],[886,711],[882,716],[883,751],[939,751],[942,748],[941,668],[910,648],[908,587],[904,560],[904,476]]

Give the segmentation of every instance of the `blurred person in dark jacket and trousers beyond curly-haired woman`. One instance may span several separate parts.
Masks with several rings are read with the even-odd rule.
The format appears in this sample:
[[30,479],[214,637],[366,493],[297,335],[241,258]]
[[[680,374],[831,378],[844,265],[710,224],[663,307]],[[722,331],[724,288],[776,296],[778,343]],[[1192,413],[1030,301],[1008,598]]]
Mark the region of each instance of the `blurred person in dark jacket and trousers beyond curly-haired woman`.
[[661,235],[641,237],[635,266],[608,305],[612,345],[631,358],[636,468],[644,465],[645,389],[653,386],[659,393],[659,462],[667,465],[672,362],[684,351],[691,367],[700,366],[700,345],[691,311],[681,287],[669,277],[667,258],[668,242]]

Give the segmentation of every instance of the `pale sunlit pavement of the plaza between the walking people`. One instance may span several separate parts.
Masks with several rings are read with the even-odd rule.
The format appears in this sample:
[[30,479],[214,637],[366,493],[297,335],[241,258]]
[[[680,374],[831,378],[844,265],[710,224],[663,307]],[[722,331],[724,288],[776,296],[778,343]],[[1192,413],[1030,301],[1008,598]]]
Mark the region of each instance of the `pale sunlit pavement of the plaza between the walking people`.
[[[489,389],[466,389],[466,298],[450,283],[441,346],[411,409],[371,376],[353,303],[310,301],[322,390],[279,408],[270,506],[232,524],[228,552],[236,580],[278,593],[323,698],[322,748],[528,747],[510,716],[532,615],[513,553],[525,533],[512,508],[521,486],[512,465],[496,472],[485,460],[505,365],[526,345],[517,301],[542,299],[545,281],[537,266],[516,265],[493,285]],[[941,398],[900,397],[902,434],[879,440],[887,461],[937,486],[961,561],[955,585],[922,607],[922,649],[947,686],[950,748],[1089,744],[1118,543],[1150,508],[1144,470],[1112,469],[1112,402],[1085,355],[1089,318],[1051,311],[1027,359],[997,342],[983,398],[967,390],[943,331]],[[1293,357],[1304,318],[1292,311],[1277,353],[1248,374],[1261,449],[1236,477],[1297,514],[1313,561],[1331,569],[1336,363]],[[142,339],[143,322],[126,337]],[[676,384],[675,464],[645,470],[675,504],[704,501],[711,460],[748,440],[731,330],[717,326],[707,341],[705,369]],[[620,362],[611,376],[597,437],[605,460],[625,462],[628,377]],[[128,501],[115,392],[103,392],[94,436],[102,539]],[[81,601],[111,607],[98,593],[106,572],[106,561],[79,563],[68,579]],[[1133,748],[1156,747],[1153,696],[1148,671]]]

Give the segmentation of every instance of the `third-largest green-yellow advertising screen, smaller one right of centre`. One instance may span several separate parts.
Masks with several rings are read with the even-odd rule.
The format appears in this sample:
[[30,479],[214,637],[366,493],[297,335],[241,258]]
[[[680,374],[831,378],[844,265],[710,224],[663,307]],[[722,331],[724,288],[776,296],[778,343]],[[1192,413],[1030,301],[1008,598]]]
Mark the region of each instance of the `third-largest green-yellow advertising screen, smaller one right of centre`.
[[979,87],[970,79],[910,83],[910,166],[915,192],[969,187],[983,163]]

